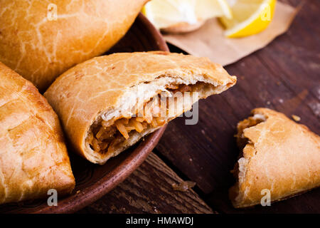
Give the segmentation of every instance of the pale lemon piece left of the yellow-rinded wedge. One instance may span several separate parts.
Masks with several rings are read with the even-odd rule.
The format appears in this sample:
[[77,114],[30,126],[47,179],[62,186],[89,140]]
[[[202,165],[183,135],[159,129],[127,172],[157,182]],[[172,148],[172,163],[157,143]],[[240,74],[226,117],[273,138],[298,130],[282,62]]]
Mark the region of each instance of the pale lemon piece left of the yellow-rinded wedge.
[[144,6],[142,13],[156,28],[181,23],[192,25],[216,16],[232,17],[225,0],[152,0]]

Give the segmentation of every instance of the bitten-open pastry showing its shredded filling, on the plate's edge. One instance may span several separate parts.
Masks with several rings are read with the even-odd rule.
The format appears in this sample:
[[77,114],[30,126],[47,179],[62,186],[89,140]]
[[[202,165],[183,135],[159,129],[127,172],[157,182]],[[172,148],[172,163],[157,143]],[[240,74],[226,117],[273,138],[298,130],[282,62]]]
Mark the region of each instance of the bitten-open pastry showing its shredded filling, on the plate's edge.
[[[221,93],[235,82],[235,76],[208,58],[162,51],[114,53],[66,71],[45,97],[78,153],[103,164],[190,110],[198,99]],[[159,105],[172,94],[176,102]]]

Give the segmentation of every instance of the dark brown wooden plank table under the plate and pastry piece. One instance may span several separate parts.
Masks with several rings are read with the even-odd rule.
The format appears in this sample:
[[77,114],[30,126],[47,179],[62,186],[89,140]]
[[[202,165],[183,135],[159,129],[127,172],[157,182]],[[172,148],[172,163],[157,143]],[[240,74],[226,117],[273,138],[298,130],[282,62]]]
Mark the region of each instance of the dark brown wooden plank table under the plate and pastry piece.
[[[284,0],[283,0],[284,1]],[[298,6],[300,0],[284,2]],[[197,125],[183,118],[169,123],[146,161],[97,202],[80,213],[320,213],[320,189],[252,209],[233,209],[230,175],[238,157],[235,126],[256,107],[301,117],[320,134],[320,1],[304,1],[289,31],[267,47],[226,66],[236,86],[199,103]],[[171,51],[181,52],[170,46]],[[196,182],[193,190],[172,184]]]

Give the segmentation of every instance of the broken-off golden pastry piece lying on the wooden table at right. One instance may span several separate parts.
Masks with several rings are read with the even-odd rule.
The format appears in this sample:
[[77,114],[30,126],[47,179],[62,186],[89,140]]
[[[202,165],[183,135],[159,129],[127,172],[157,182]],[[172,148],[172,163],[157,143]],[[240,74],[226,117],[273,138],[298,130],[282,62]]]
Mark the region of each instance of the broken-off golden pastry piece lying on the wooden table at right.
[[247,145],[234,170],[239,180],[230,189],[233,205],[260,204],[264,189],[270,190],[271,201],[278,201],[319,187],[319,135],[274,110],[256,108],[252,115],[265,120],[238,124],[238,142],[247,138]]

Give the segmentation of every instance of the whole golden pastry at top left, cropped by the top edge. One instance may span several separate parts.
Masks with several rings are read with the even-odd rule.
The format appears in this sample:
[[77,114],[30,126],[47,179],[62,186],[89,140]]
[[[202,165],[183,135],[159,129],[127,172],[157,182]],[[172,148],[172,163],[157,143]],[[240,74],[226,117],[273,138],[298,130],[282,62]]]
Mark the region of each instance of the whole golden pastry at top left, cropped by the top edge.
[[68,68],[119,41],[146,1],[2,0],[0,61],[46,90]]

